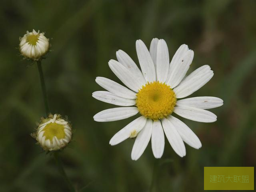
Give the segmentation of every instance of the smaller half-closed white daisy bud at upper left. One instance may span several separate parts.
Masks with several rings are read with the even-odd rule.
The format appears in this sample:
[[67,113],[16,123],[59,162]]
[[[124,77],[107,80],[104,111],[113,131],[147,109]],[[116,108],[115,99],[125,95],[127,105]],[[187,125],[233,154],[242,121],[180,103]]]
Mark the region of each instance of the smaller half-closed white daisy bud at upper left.
[[44,56],[50,48],[49,39],[44,36],[44,33],[32,32],[24,34],[20,37],[20,53],[32,60],[39,60]]

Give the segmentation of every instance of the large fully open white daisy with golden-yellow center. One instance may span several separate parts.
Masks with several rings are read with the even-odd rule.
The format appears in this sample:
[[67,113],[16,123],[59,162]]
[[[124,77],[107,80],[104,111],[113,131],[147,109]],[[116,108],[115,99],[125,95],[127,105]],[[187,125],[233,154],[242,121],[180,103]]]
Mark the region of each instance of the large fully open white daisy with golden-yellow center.
[[92,96],[123,107],[103,110],[94,116],[94,120],[116,121],[141,114],[110,140],[111,145],[116,145],[127,138],[136,137],[132,160],[140,158],[150,138],[155,158],[161,158],[164,134],[181,157],[186,155],[184,142],[199,149],[202,144],[196,134],[172,116],[172,112],[198,122],[216,121],[217,116],[205,109],[222,106],[223,100],[220,98],[205,96],[181,99],[200,89],[212,78],[210,66],[201,66],[185,77],[194,52],[183,44],[169,62],[168,47],[163,39],[154,38],[150,51],[142,40],[137,40],[136,51],[141,71],[122,50],[116,52],[118,61],[108,62],[110,69],[128,88],[104,77],[96,78],[96,82],[108,91],[96,91]]

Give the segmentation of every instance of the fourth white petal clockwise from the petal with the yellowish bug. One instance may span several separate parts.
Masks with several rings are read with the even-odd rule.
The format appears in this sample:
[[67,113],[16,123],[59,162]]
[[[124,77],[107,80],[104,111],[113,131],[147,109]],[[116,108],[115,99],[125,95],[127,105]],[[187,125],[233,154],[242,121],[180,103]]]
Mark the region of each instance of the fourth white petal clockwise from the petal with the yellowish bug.
[[110,60],[108,65],[112,72],[131,90],[138,92],[141,88],[140,82],[122,64],[116,60]]

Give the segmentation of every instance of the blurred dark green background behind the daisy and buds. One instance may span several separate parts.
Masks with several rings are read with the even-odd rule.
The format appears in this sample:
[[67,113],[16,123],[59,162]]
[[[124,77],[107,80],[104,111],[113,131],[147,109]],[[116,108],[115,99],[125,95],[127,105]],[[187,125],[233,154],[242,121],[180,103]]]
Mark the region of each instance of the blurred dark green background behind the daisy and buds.
[[[76,188],[90,192],[183,192],[203,190],[204,166],[254,166],[256,162],[256,2],[2,0],[0,8],[0,191],[65,192],[52,156],[29,134],[44,116],[36,64],[22,60],[19,36],[46,32],[52,52],[42,61],[52,113],[67,115],[76,130],[61,154]],[[192,96],[216,96],[224,105],[211,110],[214,123],[183,120],[202,148],[186,145],[180,158],[166,140],[162,159],[151,145],[138,161],[134,140],[117,146],[110,138],[136,117],[94,122],[114,106],[92,98],[104,76],[120,82],[108,67],[122,49],[138,64],[135,41],[149,47],[166,40],[173,56],[181,44],[194,50],[189,72],[208,64],[214,77]],[[153,170],[154,176],[153,176]],[[150,187],[151,186],[151,187]]]

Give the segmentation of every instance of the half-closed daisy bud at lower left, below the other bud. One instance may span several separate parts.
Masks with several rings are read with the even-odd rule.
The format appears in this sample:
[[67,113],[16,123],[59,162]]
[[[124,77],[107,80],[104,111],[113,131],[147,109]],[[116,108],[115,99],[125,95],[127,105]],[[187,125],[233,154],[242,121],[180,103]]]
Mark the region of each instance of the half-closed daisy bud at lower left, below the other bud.
[[46,151],[59,150],[67,146],[72,138],[70,124],[61,118],[59,114],[42,118],[37,128],[35,138]]

